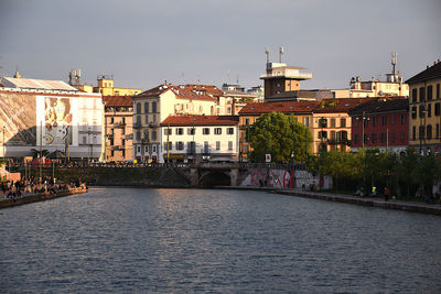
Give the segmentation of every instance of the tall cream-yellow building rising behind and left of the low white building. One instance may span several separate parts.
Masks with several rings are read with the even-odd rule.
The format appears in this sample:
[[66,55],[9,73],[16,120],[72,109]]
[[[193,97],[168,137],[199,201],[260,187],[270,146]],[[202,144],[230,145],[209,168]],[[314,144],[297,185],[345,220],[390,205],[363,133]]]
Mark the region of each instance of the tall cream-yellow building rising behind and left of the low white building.
[[160,122],[172,115],[216,115],[217,99],[209,95],[214,90],[203,85],[163,84],[133,96],[133,157],[163,162]]

